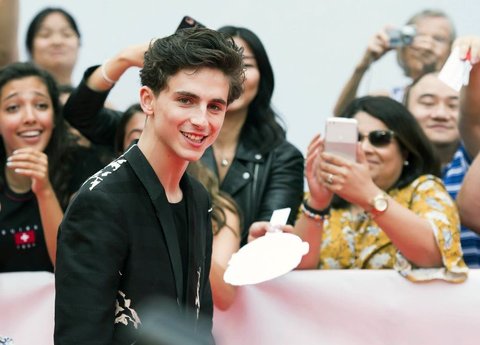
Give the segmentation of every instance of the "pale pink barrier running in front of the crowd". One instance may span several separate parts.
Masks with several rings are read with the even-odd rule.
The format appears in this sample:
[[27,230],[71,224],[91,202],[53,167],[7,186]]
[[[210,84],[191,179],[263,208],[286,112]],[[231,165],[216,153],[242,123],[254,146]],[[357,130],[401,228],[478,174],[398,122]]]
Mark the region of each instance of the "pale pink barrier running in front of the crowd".
[[[0,336],[52,345],[54,276],[0,274]],[[241,287],[215,310],[217,345],[480,343],[480,270],[462,284],[414,284],[382,271],[294,271]]]

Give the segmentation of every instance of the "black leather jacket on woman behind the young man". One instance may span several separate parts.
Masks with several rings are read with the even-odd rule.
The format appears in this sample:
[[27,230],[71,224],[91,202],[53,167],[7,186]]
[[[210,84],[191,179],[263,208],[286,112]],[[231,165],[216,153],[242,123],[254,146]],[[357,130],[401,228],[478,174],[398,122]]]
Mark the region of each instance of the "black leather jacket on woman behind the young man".
[[[213,149],[208,148],[202,161],[218,176]],[[242,242],[248,238],[250,225],[270,220],[272,212],[290,207],[289,224],[294,224],[303,198],[303,156],[284,140],[267,154],[261,154],[239,142],[235,159],[220,189],[230,194],[242,213]]]

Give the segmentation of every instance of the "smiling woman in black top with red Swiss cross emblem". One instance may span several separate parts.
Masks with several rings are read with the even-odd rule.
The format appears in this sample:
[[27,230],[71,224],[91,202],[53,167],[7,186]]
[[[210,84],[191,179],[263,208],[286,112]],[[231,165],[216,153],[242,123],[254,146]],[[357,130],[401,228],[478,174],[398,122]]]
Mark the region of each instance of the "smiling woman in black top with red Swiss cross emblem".
[[100,163],[68,135],[53,78],[0,70],[0,272],[53,271],[63,210]]

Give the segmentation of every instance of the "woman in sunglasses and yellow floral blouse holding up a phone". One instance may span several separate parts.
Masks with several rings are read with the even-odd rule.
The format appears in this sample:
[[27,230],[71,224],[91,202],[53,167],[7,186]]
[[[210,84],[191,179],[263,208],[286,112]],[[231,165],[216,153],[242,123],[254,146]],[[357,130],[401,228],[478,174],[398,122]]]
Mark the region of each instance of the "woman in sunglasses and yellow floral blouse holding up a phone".
[[[459,219],[432,146],[415,118],[388,97],[354,100],[343,117],[358,121],[357,161],[308,149],[310,189],[293,231],[310,244],[300,268],[395,268],[413,281],[461,282]],[[268,225],[256,223],[258,237]]]

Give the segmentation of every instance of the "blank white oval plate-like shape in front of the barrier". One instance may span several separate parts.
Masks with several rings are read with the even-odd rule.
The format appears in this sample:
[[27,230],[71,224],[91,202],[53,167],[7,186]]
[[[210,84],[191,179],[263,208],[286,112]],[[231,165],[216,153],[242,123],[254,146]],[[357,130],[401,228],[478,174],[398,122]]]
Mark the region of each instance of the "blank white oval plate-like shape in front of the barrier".
[[258,284],[290,272],[306,253],[308,243],[297,235],[267,233],[232,255],[223,279],[232,285]]

